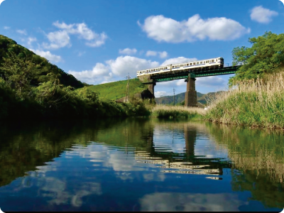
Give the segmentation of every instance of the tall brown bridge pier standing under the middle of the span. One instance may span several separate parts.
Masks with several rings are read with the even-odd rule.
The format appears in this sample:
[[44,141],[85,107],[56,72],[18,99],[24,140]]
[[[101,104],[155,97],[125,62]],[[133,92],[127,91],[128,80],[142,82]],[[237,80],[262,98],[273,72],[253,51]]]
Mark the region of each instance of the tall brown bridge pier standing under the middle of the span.
[[195,77],[187,78],[187,91],[185,92],[185,107],[197,107],[197,93],[195,90]]

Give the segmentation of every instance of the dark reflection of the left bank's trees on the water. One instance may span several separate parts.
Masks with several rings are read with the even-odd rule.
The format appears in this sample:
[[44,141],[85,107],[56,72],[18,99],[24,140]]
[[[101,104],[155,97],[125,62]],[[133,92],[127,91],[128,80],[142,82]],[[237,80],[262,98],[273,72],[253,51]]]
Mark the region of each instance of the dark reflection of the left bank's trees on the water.
[[0,131],[0,186],[57,158],[73,144],[87,145],[95,138],[83,122],[6,124]]

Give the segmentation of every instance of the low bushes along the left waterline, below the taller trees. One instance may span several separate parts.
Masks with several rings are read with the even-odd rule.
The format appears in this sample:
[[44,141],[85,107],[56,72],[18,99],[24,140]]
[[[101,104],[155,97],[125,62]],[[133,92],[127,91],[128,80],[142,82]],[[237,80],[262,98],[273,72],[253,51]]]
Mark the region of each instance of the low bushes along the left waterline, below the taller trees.
[[73,89],[44,82],[25,90],[13,89],[0,77],[0,120],[3,119],[76,119],[113,116],[148,116],[150,111],[139,100],[116,103],[100,99],[87,87]]

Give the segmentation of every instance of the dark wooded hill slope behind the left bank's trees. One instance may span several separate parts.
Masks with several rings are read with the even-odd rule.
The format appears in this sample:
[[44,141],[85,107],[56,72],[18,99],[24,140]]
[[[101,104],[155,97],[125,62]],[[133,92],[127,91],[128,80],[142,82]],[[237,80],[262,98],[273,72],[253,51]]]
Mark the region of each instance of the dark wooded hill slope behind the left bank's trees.
[[18,45],[15,40],[12,40],[4,35],[0,35],[0,76],[6,76],[6,72],[4,72],[3,69],[1,70],[1,65],[4,62],[3,58],[6,58],[11,54],[33,63],[34,75],[33,80],[31,80],[31,84],[33,86],[38,86],[38,84],[41,82],[47,82],[51,78],[51,76],[48,74],[53,74],[53,76],[60,80],[60,84],[75,88],[84,87],[84,84],[77,80],[73,75],[67,74],[56,65],[48,62],[48,60],[45,58],[35,55],[35,53],[33,53],[31,50]]

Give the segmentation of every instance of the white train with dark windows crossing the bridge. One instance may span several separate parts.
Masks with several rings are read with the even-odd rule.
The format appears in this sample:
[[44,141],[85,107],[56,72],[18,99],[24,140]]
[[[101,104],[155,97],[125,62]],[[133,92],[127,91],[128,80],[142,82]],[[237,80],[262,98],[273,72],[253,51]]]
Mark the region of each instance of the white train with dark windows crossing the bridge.
[[151,75],[156,73],[162,73],[162,72],[171,72],[176,70],[185,70],[185,69],[192,69],[192,68],[200,68],[200,67],[220,67],[222,68],[224,66],[224,59],[219,58],[210,58],[206,60],[197,60],[194,62],[185,62],[175,65],[165,65],[160,67],[155,67],[147,70],[139,70],[137,71],[137,76],[141,75]]

